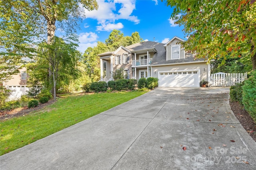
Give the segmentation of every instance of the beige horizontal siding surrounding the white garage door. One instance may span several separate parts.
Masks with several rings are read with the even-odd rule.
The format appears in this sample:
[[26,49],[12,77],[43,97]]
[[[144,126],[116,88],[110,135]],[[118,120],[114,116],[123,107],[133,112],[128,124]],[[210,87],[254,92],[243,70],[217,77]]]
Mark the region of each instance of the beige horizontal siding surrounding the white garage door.
[[[205,69],[205,71],[204,71]],[[152,77],[158,78],[158,72],[162,71],[179,71],[179,70],[200,70],[200,81],[208,80],[208,64],[206,63],[192,63],[192,64],[177,64],[169,66],[152,66]]]

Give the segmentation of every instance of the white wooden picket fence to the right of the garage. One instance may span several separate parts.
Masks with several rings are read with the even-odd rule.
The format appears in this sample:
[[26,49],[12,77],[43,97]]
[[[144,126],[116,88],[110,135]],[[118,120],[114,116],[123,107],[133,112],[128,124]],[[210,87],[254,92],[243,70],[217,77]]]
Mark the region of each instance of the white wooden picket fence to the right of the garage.
[[233,86],[247,79],[247,72],[244,73],[215,73],[211,75],[211,86]]

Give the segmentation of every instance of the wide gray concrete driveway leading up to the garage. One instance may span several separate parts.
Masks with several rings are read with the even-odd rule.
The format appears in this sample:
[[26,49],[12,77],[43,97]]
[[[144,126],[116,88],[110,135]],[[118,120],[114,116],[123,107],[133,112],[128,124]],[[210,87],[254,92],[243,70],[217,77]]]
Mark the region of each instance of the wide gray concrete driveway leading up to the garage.
[[1,156],[0,169],[255,170],[256,142],[228,92],[156,88]]

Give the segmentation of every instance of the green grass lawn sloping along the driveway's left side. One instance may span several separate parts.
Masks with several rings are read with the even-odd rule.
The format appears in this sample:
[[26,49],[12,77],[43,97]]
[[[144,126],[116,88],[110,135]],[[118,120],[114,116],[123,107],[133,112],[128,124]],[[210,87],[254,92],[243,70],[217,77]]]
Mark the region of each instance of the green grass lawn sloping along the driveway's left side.
[[1,121],[0,155],[42,139],[144,93],[146,92],[65,94],[44,109]]

